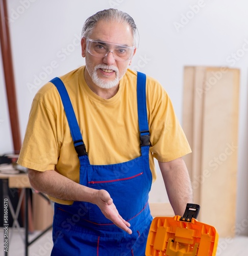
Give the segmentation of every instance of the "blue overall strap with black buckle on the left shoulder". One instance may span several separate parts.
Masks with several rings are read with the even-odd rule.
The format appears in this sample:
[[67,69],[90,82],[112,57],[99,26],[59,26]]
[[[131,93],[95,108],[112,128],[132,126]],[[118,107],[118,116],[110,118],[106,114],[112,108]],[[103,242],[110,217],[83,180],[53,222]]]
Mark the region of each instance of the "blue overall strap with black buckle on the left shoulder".
[[52,82],[56,88],[59,91],[63,106],[64,106],[64,110],[65,110],[65,114],[67,117],[67,121],[70,127],[70,134],[75,146],[75,150],[78,153],[78,156],[84,156],[87,155],[86,152],[86,148],[85,148],[85,144],[83,142],[83,138],[82,138],[82,134],[80,132],[80,128],[79,128],[79,124],[75,115],[75,112],[73,110],[71,101],[70,101],[70,97],[66,91],[66,88],[64,86],[64,83],[62,82],[62,80],[59,77],[55,77],[54,79],[52,79],[50,82]]

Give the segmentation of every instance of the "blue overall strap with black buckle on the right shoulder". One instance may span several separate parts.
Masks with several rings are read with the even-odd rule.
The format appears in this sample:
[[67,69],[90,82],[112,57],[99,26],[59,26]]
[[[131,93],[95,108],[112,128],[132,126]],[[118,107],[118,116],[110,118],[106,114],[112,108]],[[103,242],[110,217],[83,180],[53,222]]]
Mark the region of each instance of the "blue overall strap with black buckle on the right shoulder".
[[150,133],[147,119],[145,88],[146,75],[141,72],[137,72],[137,103],[141,150],[144,146],[150,147]]

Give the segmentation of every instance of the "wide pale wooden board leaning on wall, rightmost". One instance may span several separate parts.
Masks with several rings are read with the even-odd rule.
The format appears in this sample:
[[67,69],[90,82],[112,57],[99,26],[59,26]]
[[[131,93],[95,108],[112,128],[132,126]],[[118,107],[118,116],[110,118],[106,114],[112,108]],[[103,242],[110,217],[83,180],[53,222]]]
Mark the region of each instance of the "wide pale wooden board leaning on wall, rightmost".
[[222,237],[234,236],[239,71],[207,68],[206,80],[211,87],[204,101],[202,170],[207,175],[201,187],[201,217],[217,227]]

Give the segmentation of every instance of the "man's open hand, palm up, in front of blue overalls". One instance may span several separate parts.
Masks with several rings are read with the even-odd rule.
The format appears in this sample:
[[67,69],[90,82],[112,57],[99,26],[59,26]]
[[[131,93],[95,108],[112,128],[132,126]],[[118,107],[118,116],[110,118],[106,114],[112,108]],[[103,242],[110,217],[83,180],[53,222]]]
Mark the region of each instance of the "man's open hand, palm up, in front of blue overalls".
[[129,234],[132,233],[132,230],[129,228],[130,223],[123,220],[123,218],[119,215],[119,212],[116,209],[113,199],[110,197],[108,191],[104,189],[97,190],[95,204],[101,209],[104,216],[111,220],[117,227],[125,230]]

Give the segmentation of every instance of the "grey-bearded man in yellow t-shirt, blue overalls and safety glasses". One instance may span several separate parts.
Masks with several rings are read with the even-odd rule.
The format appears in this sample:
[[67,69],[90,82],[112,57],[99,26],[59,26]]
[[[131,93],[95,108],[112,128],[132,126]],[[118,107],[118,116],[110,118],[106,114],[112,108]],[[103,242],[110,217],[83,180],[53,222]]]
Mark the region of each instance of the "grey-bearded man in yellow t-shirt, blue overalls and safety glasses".
[[154,158],[182,216],[192,202],[181,158],[190,147],[161,84],[128,69],[137,47],[130,15],[92,15],[81,46],[86,65],[36,94],[18,163],[55,202],[52,255],[144,255]]

